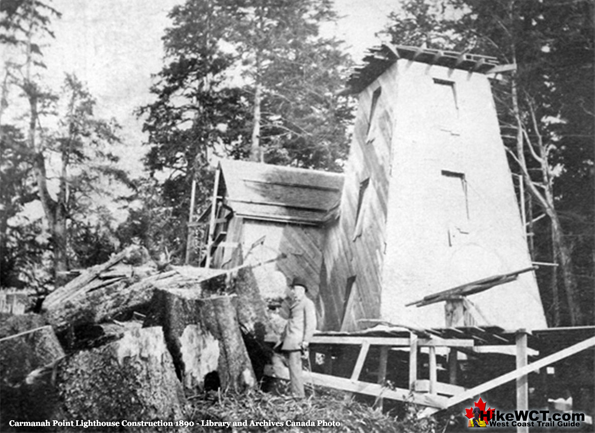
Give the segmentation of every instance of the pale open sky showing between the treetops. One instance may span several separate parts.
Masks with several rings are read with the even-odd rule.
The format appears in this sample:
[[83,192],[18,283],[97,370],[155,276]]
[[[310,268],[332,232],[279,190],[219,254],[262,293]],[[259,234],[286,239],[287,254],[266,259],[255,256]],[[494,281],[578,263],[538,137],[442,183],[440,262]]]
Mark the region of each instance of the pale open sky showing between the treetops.
[[[65,73],[76,73],[97,99],[96,114],[115,117],[123,125],[127,150],[143,153],[142,121],[134,110],[152,101],[152,74],[163,66],[161,37],[170,26],[168,12],[182,0],[52,0],[62,17],[54,20],[55,39],[43,50],[48,84],[59,89]],[[342,18],[324,28],[337,36],[358,62],[366,48],[377,45],[374,34],[399,0],[335,0]],[[130,164],[133,159],[129,158]]]

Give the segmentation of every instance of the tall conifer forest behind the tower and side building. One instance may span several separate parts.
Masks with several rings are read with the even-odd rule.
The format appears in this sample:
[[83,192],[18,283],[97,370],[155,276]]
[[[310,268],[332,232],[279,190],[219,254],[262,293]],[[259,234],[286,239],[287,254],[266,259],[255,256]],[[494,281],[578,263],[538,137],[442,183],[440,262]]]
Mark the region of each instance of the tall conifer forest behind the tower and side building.
[[[3,0],[1,286],[43,296],[71,269],[130,243],[183,263],[196,238],[198,257],[190,189],[194,181],[200,213],[217,157],[342,171],[355,103],[339,96],[354,59],[328,31],[345,20],[340,8],[330,0],[173,5],[161,71],[134,112],[139,149],[130,113],[115,102],[97,109],[87,83],[73,73],[58,86],[45,64],[64,11]],[[537,271],[549,325],[593,324],[594,20],[590,0],[406,0],[372,30],[397,44],[516,64],[493,91],[515,184],[524,186],[531,256],[557,265]]]

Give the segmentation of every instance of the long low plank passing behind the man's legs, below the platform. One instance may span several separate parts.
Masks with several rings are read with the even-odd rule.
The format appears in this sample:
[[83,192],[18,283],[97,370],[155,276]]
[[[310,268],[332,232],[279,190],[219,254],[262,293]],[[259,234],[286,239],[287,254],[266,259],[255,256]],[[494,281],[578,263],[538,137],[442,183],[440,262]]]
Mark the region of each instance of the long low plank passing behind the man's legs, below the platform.
[[[265,366],[264,374],[274,378],[289,380],[289,370],[281,365],[267,365]],[[403,388],[388,389],[378,384],[370,382],[356,381],[351,379],[341,378],[337,376],[328,376],[321,373],[308,373],[304,377],[306,382],[314,385],[334,388],[336,390],[343,390],[350,393],[366,394],[368,396],[383,397],[385,399],[392,399],[397,401],[410,401],[415,404],[422,404],[423,406],[433,407],[440,410],[446,404],[446,397],[430,396],[430,394],[410,393],[409,390]]]

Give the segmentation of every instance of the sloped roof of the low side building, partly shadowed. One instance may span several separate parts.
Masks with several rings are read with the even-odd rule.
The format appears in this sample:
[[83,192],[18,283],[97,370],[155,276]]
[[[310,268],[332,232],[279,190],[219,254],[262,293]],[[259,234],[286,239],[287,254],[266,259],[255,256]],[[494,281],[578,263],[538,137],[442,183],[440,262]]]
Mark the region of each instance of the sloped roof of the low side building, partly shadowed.
[[342,174],[228,159],[220,167],[235,215],[321,225],[338,211]]

